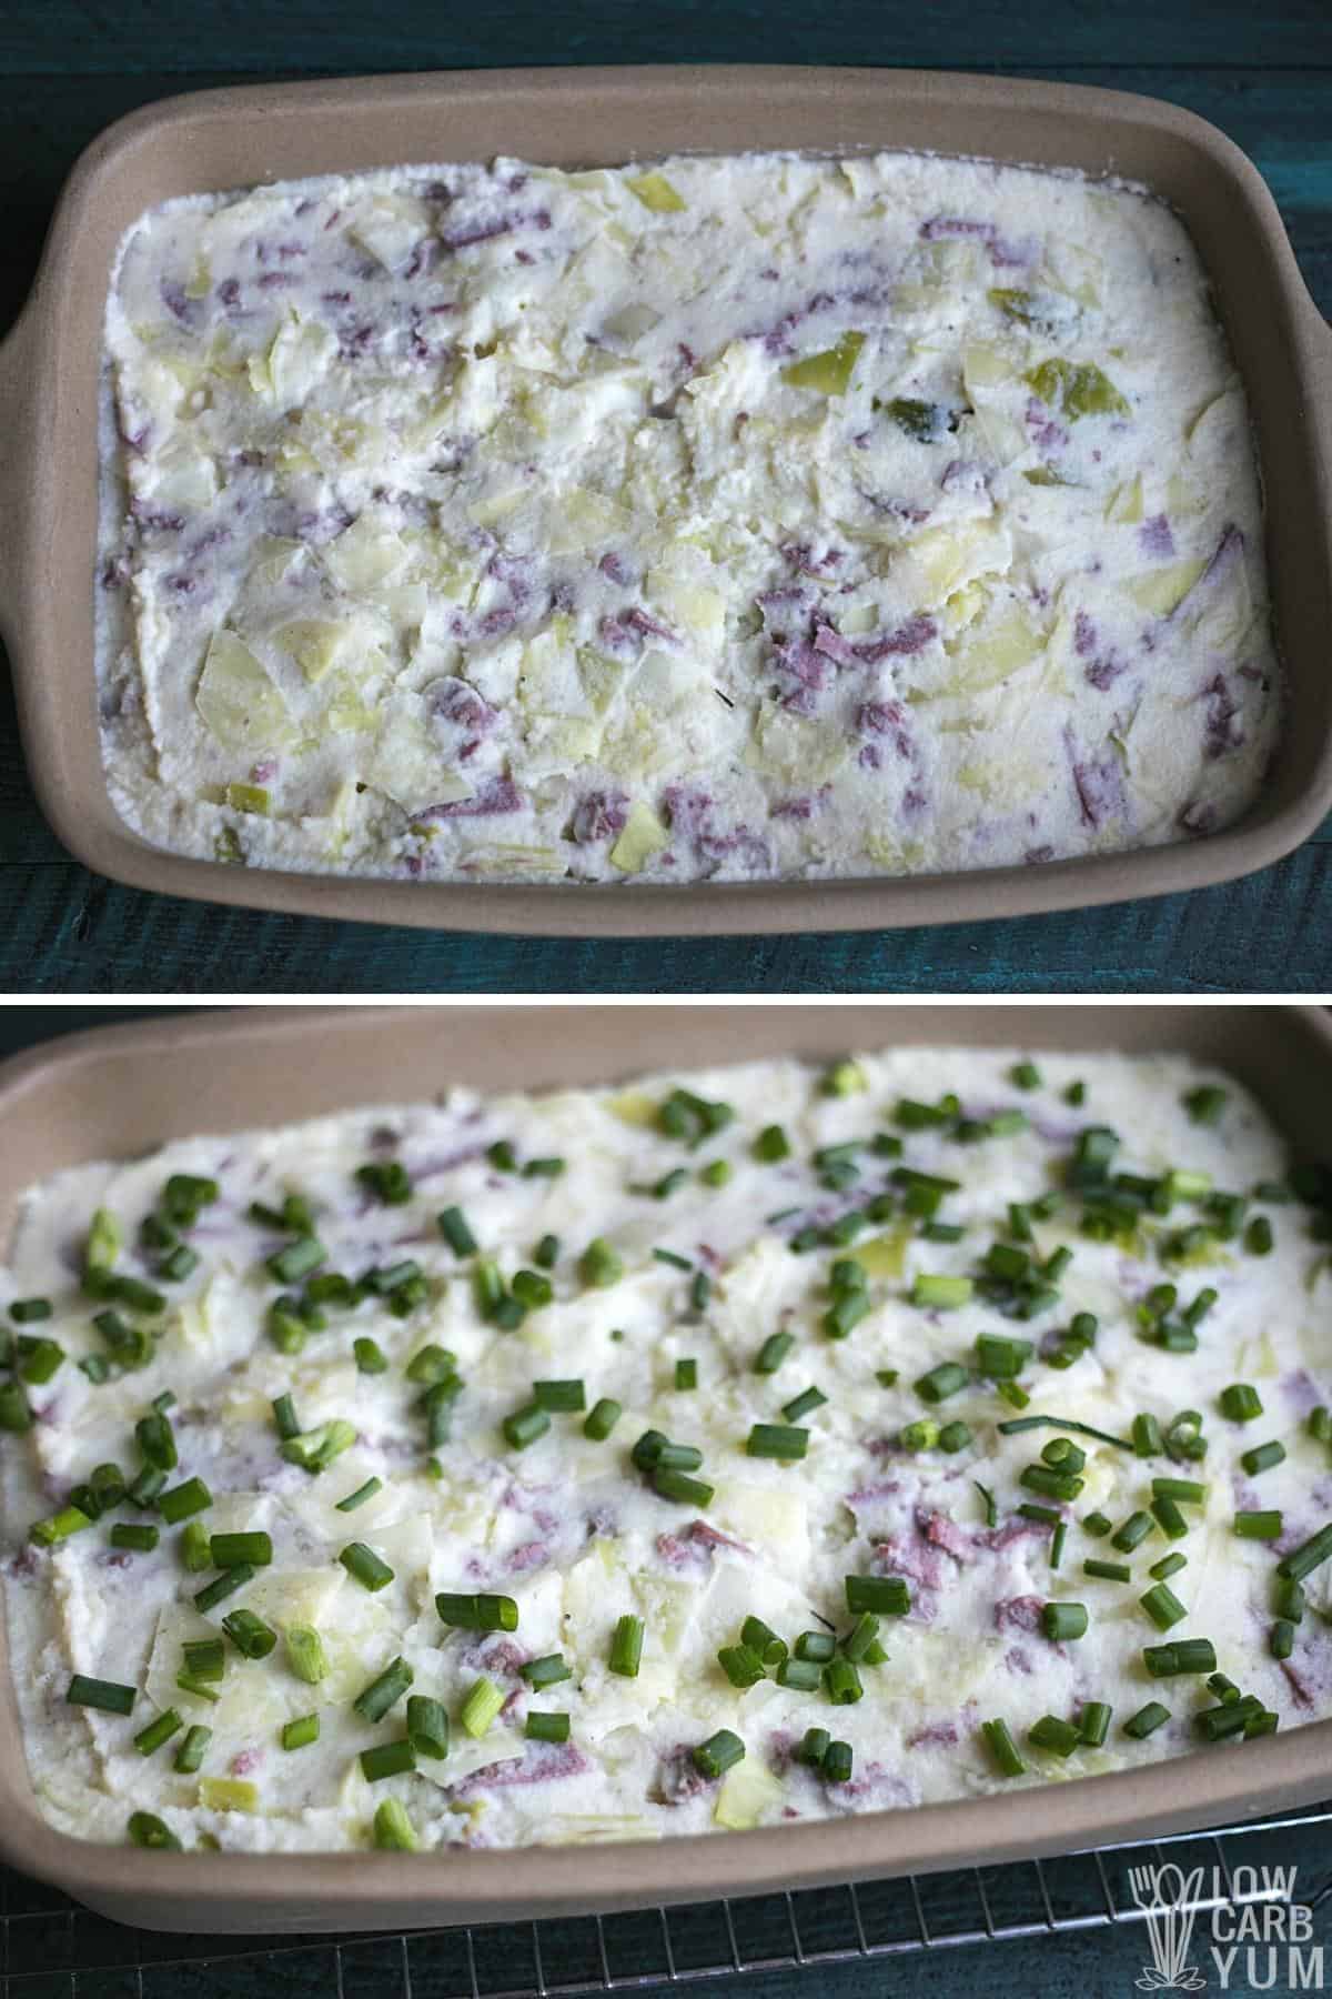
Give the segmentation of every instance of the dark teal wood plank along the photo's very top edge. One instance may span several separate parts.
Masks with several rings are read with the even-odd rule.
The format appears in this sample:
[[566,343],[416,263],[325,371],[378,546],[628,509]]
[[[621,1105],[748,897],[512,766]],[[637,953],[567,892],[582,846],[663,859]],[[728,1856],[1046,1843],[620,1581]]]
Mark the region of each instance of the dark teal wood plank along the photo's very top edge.
[[915,68],[963,64],[1332,62],[1326,0],[1250,0],[1112,8],[1046,0],[933,0],[887,8],[865,0],[509,0],[503,8],[339,8],[330,0],[194,0],[172,30],[160,0],[42,0],[0,20],[0,72],[176,72],[216,50],[252,76],[286,68],[421,70],[519,62],[871,62]]

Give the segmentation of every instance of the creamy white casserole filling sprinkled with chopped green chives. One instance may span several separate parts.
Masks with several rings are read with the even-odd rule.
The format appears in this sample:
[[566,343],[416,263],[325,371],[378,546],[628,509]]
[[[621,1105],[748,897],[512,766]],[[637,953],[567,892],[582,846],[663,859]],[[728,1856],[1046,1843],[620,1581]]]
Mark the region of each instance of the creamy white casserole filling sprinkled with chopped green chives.
[[[747,1827],[1184,1751],[1248,1753],[1200,1739],[1196,1717],[1218,1707],[1206,1671],[1150,1675],[1146,1647],[1178,1639],[1210,1639],[1216,1669],[1282,1727],[1330,1713],[1330,1565],[1306,1577],[1288,1657],[1272,1655],[1278,1563],[1332,1515],[1328,1443],[1310,1427],[1310,1411],[1332,1401],[1326,1229],[1302,1201],[1278,1199],[1284,1147],[1236,1085],[1178,1059],[1106,1055],[1036,1057],[1038,1085],[1020,1087],[1030,1077],[1014,1081],[1014,1059],[863,1055],[835,1071],[849,1093],[829,1093],[797,1061],[537,1099],[457,1089],[433,1105],[176,1143],[34,1189],[0,1295],[50,1299],[48,1321],[14,1331],[62,1349],[54,1371],[50,1355],[34,1365],[36,1349],[20,1349],[20,1385],[4,1389],[6,1419],[24,1395],[34,1415],[4,1453],[4,1593],[42,1811],[102,1841],[124,1839],[142,1809],[188,1847],[333,1849],[365,1845],[377,1807],[395,1799],[423,1847],[501,1847]],[[673,1099],[667,1123],[679,1131],[667,1135],[661,1105],[681,1081],[695,1097]],[[1210,1107],[1200,1087],[1224,1089],[1210,1123],[1196,1121]],[[927,1109],[903,1111],[903,1097]],[[1098,1181],[1076,1161],[1102,1143],[1080,1133],[1106,1125],[1120,1145]],[[357,1175],[365,1163],[401,1165],[407,1199],[375,1197]],[[170,1281],[170,1251],[136,1243],[182,1173],[216,1181],[218,1195],[184,1229],[198,1265]],[[1116,1173],[1136,1179],[1114,1187]],[[913,1175],[957,1183],[933,1217],[913,1211],[931,1205]],[[284,1285],[266,1263],[304,1237],[250,1217],[252,1203],[282,1209],[290,1195],[310,1205],[320,1277],[393,1269],[353,1307],[326,1303],[328,1325],[304,1337],[292,1317],[302,1283]],[[94,1277],[100,1297],[82,1295],[78,1275],[94,1211],[124,1237],[112,1277]],[[465,1251],[463,1217],[477,1255],[457,1253],[439,1213]],[[557,1243],[539,1257],[545,1237]],[[591,1243],[601,1247],[589,1255]],[[162,1293],[162,1309],[134,1279]],[[941,1295],[925,1279],[955,1279],[943,1295],[967,1301],[923,1303]],[[1158,1285],[1176,1287],[1172,1303],[1152,1295]],[[110,1337],[92,1325],[108,1309],[122,1321],[104,1321]],[[142,1351],[124,1325],[146,1329]],[[1184,1351],[1190,1327],[1196,1351]],[[1012,1399],[997,1385],[1000,1349],[979,1337],[1030,1341],[1014,1353]],[[94,1373],[110,1361],[106,1379],[88,1379],[90,1355]],[[695,1387],[681,1363],[693,1363]],[[951,1383],[941,1365],[955,1369]],[[42,1379],[24,1389],[24,1369]],[[565,1399],[583,1409],[505,1433],[539,1381],[581,1383]],[[1222,1413],[1234,1383],[1250,1385],[1260,1415]],[[943,1385],[945,1399],[931,1399]],[[805,1397],[811,1387],[817,1397]],[[182,1523],[160,1499],[126,1499],[42,1545],[70,1525],[64,1509],[94,1467],[140,1471],[160,1425],[136,1425],[168,1391],[178,1463],[166,1491],[202,1479],[212,1503]],[[425,1393],[445,1411],[433,1445]],[[284,1447],[284,1395],[314,1441]],[[807,1405],[793,1423],[783,1411],[797,1397]],[[585,1411],[603,1399],[621,1415],[589,1437]],[[1202,1457],[1188,1455],[1196,1425],[1182,1411],[1198,1411]],[[1038,1413],[1062,1427],[1002,1429]],[[1150,1455],[1132,1449],[1134,1417],[1150,1419]],[[805,1431],[805,1455],[751,1455],[755,1423]],[[531,1441],[515,1443],[527,1427]],[[683,1467],[697,1489],[635,1463],[647,1431],[697,1449],[701,1463]],[[1050,1493],[1042,1463],[1060,1437],[1086,1451],[1070,1497]],[[320,1439],[328,1463],[304,1469]],[[1250,1473],[1242,1453],[1270,1441],[1284,1459]],[[1160,1477],[1202,1491],[1178,1517],[1154,1519]],[[1280,1515],[1274,1539],[1236,1533],[1236,1513],[1252,1511]],[[30,1523],[52,1515],[56,1529],[30,1539]],[[1096,1531],[1094,1515],[1112,1531]],[[1120,1535],[1132,1515],[1144,1519]],[[124,1525],[156,1525],[156,1549],[116,1547]],[[200,1531],[272,1541],[272,1563],[204,1611],[196,1593],[222,1571],[208,1549],[202,1569],[186,1569],[186,1535]],[[1134,1531],[1142,1539],[1120,1547]],[[347,1571],[349,1543],[391,1571],[383,1587]],[[1142,1597],[1174,1553],[1184,1565],[1166,1589],[1180,1617],[1162,1631]],[[1126,1565],[1130,1579],[1088,1575],[1088,1559]],[[897,1579],[877,1629],[887,1657],[861,1657],[851,1681],[837,1667],[861,1699],[837,1705],[821,1673],[813,1689],[781,1685],[779,1653],[753,1685],[729,1681],[719,1653],[741,1643],[749,1617],[793,1653],[801,1633],[863,1647],[871,1633],[851,1637],[847,1577],[879,1591]],[[445,1609],[455,1595],[509,1599],[511,1629],[441,1621],[441,1593]],[[1046,1603],[1082,1603],[1086,1635],[1052,1641]],[[268,1657],[224,1635],[238,1609],[276,1633]],[[635,1677],[613,1669],[623,1617],[643,1625]],[[320,1633],[318,1683],[292,1669],[292,1625]],[[178,1679],[184,1645],[200,1639],[222,1641],[216,1701]],[[567,1677],[533,1689],[523,1665],[549,1655]],[[369,1781],[361,1753],[401,1741],[409,1711],[399,1695],[367,1721],[355,1701],[395,1659],[411,1667],[411,1697],[443,1705],[451,1747]],[[132,1711],[72,1705],[74,1673],[130,1689]],[[497,1713],[473,1737],[463,1713],[479,1681]],[[1046,1715],[1080,1725],[1088,1701],[1110,1707],[1100,1745],[1064,1759],[1026,1739]],[[1152,1701],[1166,1719],[1134,1739],[1126,1723]],[[182,1725],[142,1753],[136,1739],[166,1711]],[[527,1739],[535,1713],[567,1715],[567,1741]],[[284,1727],[306,1715],[318,1715],[318,1741],[284,1749]],[[995,1761],[983,1723],[997,1717],[1024,1777]],[[180,1773],[190,1727],[212,1737],[198,1771]],[[849,1747],[849,1781],[801,1761],[811,1727]],[[717,1781],[693,1751],[721,1729],[745,1755]]]

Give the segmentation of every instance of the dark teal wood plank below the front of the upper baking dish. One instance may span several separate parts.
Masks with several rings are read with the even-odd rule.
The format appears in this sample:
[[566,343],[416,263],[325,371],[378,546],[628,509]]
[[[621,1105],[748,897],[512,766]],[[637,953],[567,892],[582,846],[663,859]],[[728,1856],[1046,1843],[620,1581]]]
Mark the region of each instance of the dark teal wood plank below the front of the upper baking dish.
[[1332,990],[1332,850],[1226,888],[1006,924],[591,944],[431,936],[142,896],[74,862],[0,874],[0,990],[78,994]]

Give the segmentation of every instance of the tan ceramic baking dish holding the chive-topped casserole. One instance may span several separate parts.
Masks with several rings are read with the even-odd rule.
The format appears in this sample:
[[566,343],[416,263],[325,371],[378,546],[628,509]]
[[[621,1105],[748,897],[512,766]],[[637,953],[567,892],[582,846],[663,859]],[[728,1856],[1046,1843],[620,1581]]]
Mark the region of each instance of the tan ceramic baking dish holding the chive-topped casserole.
[[[1316,1009],[1066,1005],[361,1007],[164,1017],[0,1067],[0,1241],[32,1179],[190,1131],[477,1087],[889,1043],[1180,1049],[1240,1075],[1298,1153],[1332,1125],[1332,1025]],[[174,1855],[104,1847],[38,1813],[0,1635],[0,1853],[122,1923],[192,1931],[373,1929],[575,1915],[1056,1853],[1332,1797],[1332,1721],[1242,1749],[1052,1783],[1038,1795],[879,1811],[757,1833],[421,1855]]]

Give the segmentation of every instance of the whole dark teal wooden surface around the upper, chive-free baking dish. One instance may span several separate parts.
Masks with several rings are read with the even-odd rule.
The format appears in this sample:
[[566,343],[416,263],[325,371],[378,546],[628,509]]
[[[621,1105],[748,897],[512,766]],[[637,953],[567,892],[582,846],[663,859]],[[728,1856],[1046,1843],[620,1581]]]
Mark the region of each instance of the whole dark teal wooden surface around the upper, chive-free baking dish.
[[[767,60],[1004,70],[1170,98],[1266,174],[1332,316],[1332,0],[0,0],[0,326],[78,150],[152,98],[409,68]],[[4,442],[0,440],[0,450]],[[1332,640],[1330,640],[1332,668]],[[777,940],[431,936],[142,896],[74,864],[0,700],[0,992],[1324,992],[1332,822],[1248,882],[1056,918]]]

